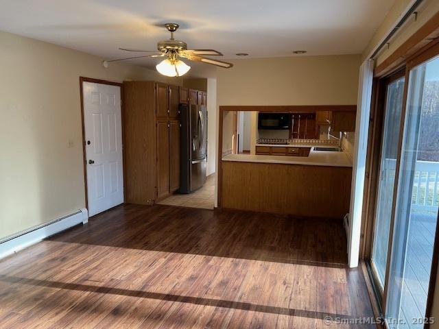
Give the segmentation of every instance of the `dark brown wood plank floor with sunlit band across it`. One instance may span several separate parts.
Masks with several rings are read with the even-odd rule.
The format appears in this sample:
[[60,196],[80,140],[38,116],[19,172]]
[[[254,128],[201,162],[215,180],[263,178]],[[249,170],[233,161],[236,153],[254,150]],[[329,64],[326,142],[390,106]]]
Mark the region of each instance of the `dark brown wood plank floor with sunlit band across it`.
[[0,260],[0,327],[375,328],[325,319],[372,317],[345,263],[341,222],[119,206]]

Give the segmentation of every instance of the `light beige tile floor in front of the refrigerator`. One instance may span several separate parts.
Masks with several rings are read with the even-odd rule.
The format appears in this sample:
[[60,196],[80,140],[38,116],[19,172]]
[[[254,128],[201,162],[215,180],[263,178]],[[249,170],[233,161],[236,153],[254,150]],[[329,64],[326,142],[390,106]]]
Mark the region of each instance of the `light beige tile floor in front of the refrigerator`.
[[189,208],[213,209],[215,205],[215,174],[210,175],[204,186],[191,194],[174,194],[158,204]]

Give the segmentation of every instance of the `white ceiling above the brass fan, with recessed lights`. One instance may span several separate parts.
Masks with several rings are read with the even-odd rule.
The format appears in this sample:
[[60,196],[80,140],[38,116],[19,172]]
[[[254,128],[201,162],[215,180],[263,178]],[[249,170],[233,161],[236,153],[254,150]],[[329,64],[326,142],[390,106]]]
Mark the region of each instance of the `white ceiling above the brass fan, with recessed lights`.
[[[224,58],[361,53],[394,0],[0,0],[0,29],[103,58],[119,47],[156,50],[179,23],[178,40]],[[154,67],[160,59],[132,60]],[[206,64],[202,64],[206,65]],[[192,73],[204,74],[200,64]]]

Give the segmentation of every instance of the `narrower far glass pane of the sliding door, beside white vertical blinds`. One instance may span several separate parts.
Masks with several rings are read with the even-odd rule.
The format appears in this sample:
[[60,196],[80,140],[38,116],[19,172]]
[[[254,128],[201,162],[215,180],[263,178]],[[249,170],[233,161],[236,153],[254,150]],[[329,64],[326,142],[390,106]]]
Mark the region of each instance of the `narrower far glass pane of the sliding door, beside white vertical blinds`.
[[379,170],[377,212],[371,263],[376,281],[384,287],[387,265],[390,218],[392,215],[393,190],[395,182],[396,156],[403,109],[404,77],[394,80],[387,87],[383,143]]

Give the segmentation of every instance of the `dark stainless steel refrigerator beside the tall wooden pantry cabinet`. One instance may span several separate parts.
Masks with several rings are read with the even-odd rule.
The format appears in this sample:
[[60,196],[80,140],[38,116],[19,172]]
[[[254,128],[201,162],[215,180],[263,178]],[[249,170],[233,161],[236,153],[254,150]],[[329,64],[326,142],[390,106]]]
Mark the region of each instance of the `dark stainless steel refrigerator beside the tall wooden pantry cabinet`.
[[206,182],[206,106],[180,104],[180,193],[192,193]]

